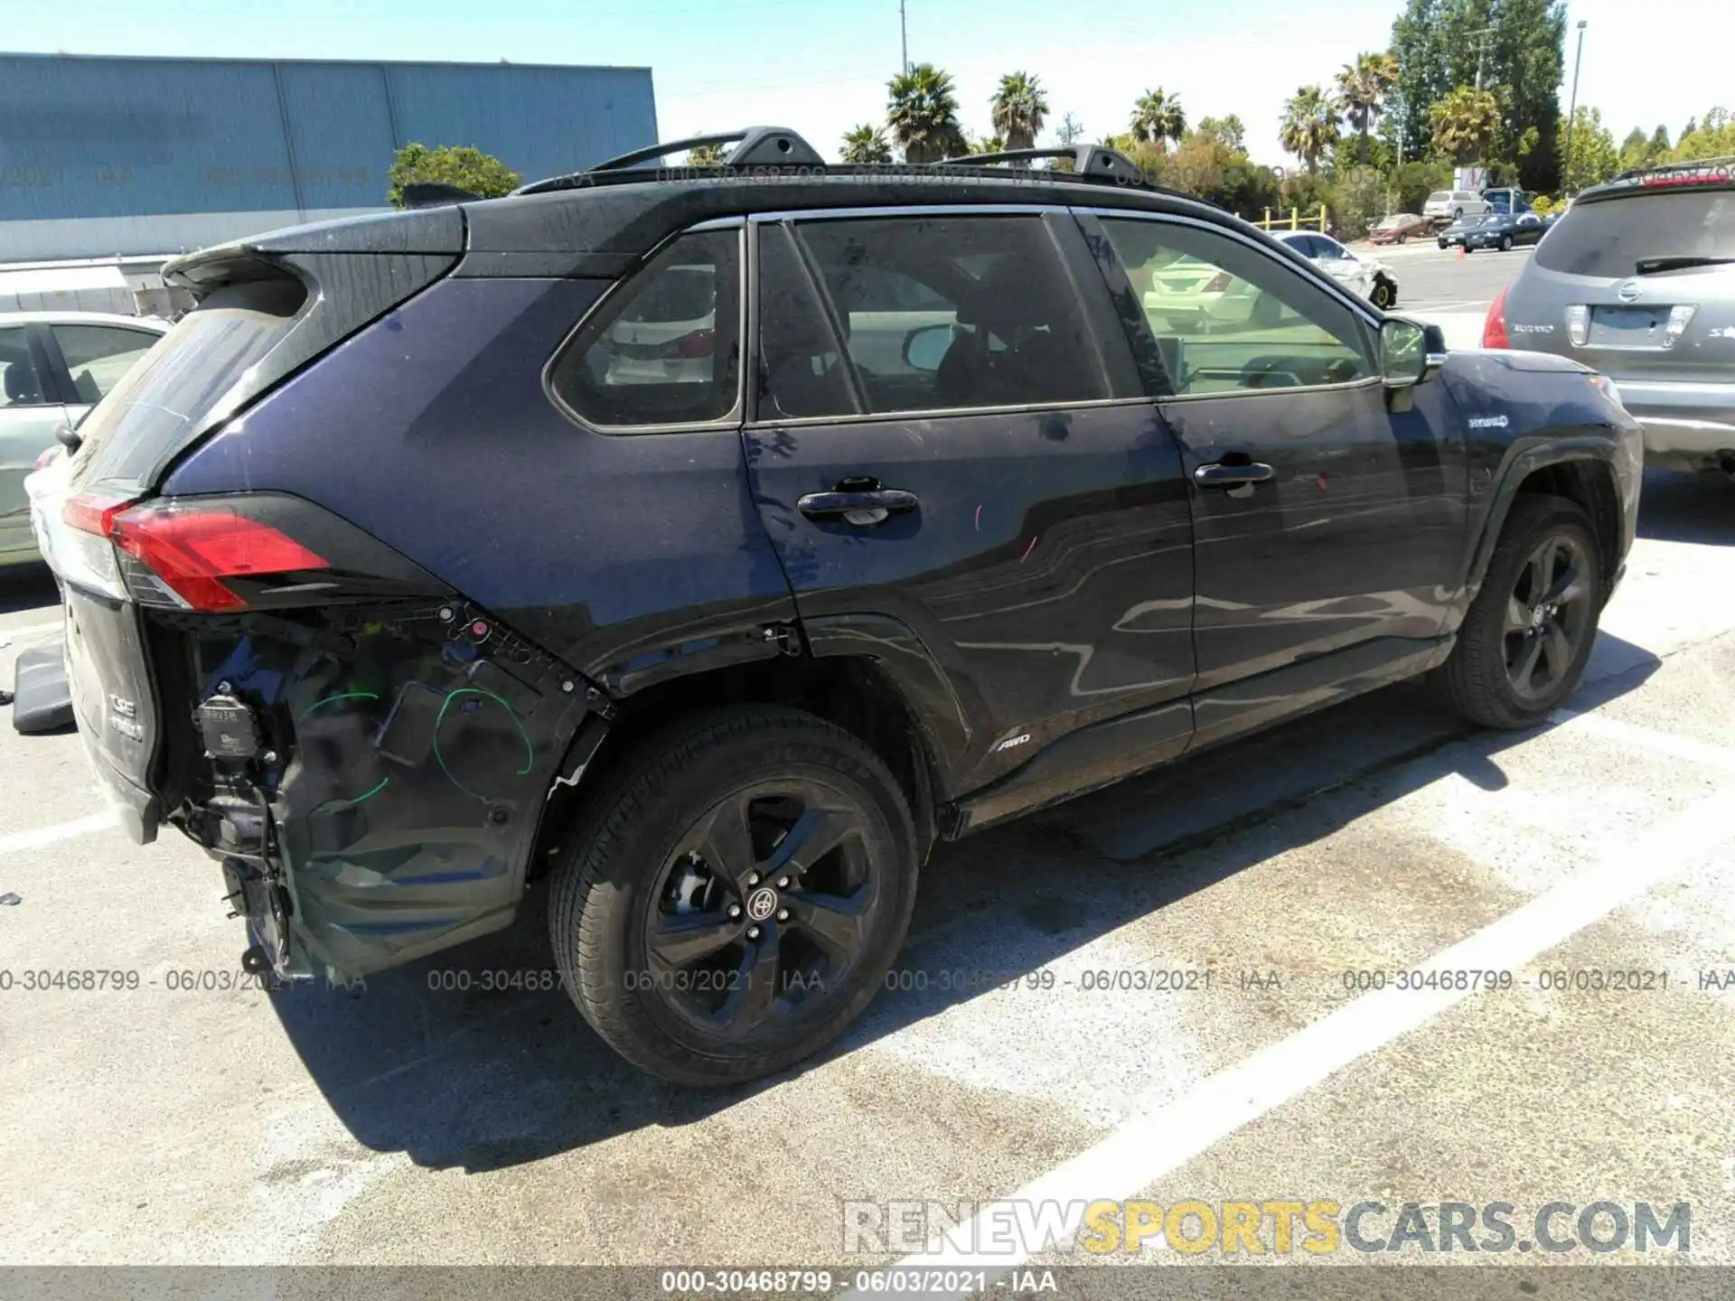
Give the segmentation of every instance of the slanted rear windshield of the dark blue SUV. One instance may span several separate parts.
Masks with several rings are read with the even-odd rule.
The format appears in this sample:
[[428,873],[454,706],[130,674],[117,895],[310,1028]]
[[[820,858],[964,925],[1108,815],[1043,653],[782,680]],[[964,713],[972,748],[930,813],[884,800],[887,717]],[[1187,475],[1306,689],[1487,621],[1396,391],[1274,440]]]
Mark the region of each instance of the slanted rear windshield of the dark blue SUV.
[[[189,312],[78,425],[80,482],[142,484],[295,321],[260,286],[219,290]],[[279,314],[272,307],[290,307]]]

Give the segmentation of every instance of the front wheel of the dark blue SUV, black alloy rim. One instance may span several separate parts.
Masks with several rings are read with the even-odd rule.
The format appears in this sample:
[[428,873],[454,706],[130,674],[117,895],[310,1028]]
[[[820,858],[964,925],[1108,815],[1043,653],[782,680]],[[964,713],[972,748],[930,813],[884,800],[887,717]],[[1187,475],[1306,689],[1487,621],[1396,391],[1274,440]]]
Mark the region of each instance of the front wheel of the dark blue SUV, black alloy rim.
[[[1560,557],[1567,560],[1563,567],[1551,566],[1551,585],[1568,583],[1568,578],[1570,583],[1560,612],[1544,618],[1529,597],[1548,595],[1534,592],[1534,566],[1551,543],[1570,548],[1570,555]],[[1601,579],[1596,534],[1584,510],[1558,496],[1520,496],[1489,559],[1482,590],[1457,630],[1452,657],[1440,670],[1452,708],[1482,727],[1523,729],[1542,722],[1584,675],[1601,616]],[[1562,640],[1551,635],[1555,628]],[[1541,652],[1530,657],[1534,671],[1527,677],[1523,664],[1537,644]],[[1523,689],[1518,685],[1522,677],[1527,677]]]

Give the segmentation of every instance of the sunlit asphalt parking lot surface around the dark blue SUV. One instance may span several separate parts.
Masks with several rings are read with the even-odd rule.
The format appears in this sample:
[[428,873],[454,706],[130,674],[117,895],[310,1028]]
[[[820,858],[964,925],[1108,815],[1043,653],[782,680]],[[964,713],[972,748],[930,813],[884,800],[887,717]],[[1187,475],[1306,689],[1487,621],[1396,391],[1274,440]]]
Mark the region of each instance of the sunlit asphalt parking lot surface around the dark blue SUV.
[[[1518,267],[1400,257],[1423,316]],[[1653,474],[1640,531],[1549,727],[1398,687],[944,847],[894,987],[727,1095],[475,987],[548,968],[540,895],[364,987],[238,987],[215,866],[113,831],[75,735],[0,725],[0,1263],[873,1266],[973,1259],[899,1207],[1098,1199],[1378,1202],[1388,1245],[1405,1204],[1508,1202],[1509,1265],[1679,1261],[1523,1244],[1551,1202],[1686,1204],[1686,1259],[1735,1263],[1735,486]],[[0,682],[52,602],[0,590]]]

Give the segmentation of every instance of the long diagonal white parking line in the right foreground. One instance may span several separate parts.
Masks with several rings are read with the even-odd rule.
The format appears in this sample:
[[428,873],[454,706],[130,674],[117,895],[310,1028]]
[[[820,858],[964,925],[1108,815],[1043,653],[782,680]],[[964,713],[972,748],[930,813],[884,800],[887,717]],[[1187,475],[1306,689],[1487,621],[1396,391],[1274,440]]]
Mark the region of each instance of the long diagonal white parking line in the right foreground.
[[[1577,725],[1584,716],[1572,722]],[[1627,730],[1631,725],[1615,727]],[[1662,749],[1655,744],[1662,734],[1636,727],[1631,727],[1631,734],[1640,744]],[[1594,867],[1575,873],[1411,970],[1522,970],[1579,930],[1735,840],[1735,822],[1728,817],[1732,796],[1735,791],[1725,788],[1716,796],[1664,819],[1633,841],[1615,847]],[[1386,987],[1364,994],[1291,1037],[1201,1081],[1180,1098],[1121,1124],[1095,1147],[1039,1176],[1006,1200],[1065,1206],[1133,1197],[1218,1140],[1433,1020],[1473,992]],[[999,1273],[1022,1265],[1027,1259],[1025,1247],[1031,1244],[1018,1242],[1015,1252],[977,1247],[992,1242],[994,1233],[1003,1232],[1003,1226],[996,1225],[996,1214],[994,1209],[984,1211],[975,1221],[947,1233],[940,1251],[909,1256],[899,1261],[899,1266]]]

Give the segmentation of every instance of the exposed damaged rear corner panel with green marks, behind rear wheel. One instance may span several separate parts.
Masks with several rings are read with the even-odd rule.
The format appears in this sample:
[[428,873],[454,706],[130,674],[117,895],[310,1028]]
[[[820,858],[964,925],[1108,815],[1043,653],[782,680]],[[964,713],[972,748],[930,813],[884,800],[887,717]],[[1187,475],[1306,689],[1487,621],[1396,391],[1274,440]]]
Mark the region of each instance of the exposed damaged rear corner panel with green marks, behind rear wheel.
[[552,656],[463,602],[406,602],[331,607],[318,626],[208,624],[196,675],[200,699],[232,694],[260,715],[257,768],[215,762],[212,807],[262,805],[269,820],[208,819],[203,840],[286,890],[286,951],[272,952],[264,893],[245,900],[274,964],[364,975],[512,921],[586,713]]

